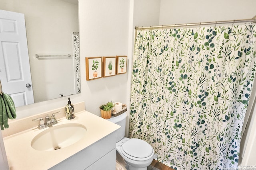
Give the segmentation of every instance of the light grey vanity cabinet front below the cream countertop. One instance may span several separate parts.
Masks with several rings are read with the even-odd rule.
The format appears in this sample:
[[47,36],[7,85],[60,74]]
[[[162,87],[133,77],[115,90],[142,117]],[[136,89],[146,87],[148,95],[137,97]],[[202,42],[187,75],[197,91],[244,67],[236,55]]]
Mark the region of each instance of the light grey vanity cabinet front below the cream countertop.
[[114,170],[116,169],[115,139],[116,131],[63,160],[50,170]]

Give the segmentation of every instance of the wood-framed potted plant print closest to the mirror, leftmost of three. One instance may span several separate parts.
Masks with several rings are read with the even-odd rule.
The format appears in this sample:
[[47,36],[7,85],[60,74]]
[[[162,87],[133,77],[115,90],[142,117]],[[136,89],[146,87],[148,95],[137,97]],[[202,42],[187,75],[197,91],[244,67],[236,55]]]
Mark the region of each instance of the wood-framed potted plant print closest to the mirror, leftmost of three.
[[102,57],[86,57],[86,80],[102,78]]

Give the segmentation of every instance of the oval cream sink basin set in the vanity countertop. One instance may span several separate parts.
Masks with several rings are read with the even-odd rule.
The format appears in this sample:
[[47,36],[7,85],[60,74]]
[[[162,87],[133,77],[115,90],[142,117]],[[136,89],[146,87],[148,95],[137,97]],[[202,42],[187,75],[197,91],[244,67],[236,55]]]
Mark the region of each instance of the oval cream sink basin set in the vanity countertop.
[[44,151],[68,147],[85,137],[86,131],[86,127],[78,123],[53,126],[36,135],[31,147]]

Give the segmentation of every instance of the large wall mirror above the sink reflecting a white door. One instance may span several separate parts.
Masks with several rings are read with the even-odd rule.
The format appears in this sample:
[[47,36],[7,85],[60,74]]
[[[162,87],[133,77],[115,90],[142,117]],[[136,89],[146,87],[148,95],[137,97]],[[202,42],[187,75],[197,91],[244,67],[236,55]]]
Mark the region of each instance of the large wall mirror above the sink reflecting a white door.
[[15,106],[80,93],[78,0],[0,7],[0,79]]

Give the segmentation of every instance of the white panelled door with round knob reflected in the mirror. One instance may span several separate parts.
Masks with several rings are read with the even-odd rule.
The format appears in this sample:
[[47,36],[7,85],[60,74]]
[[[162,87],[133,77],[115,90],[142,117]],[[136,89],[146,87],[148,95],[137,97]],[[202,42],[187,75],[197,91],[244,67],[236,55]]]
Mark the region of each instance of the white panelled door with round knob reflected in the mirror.
[[34,103],[24,14],[0,10],[0,80],[16,107]]

